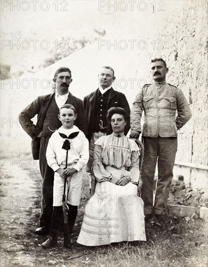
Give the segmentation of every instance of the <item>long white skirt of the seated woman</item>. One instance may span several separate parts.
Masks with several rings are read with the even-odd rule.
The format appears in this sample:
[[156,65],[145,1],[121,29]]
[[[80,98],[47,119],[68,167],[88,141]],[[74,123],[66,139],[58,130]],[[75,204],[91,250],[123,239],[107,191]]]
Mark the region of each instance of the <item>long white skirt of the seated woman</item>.
[[146,241],[144,202],[137,197],[137,186],[97,183],[85,207],[77,243],[100,246],[135,240]]

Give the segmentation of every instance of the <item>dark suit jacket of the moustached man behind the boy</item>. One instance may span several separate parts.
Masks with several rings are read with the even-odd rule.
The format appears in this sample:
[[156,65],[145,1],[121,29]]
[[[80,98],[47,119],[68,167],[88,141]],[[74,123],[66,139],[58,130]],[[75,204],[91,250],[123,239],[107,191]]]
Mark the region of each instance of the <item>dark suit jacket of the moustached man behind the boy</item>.
[[[55,93],[44,95],[44,96],[39,96],[36,100],[34,100],[31,104],[29,104],[25,109],[23,109],[22,112],[19,114],[19,122],[23,130],[27,134],[29,134],[33,140],[36,139],[38,134],[43,129],[45,116],[46,116],[49,104],[54,94]],[[75,125],[87,136],[86,115],[85,115],[85,110],[84,110],[82,100],[80,100],[79,98],[76,98],[69,92],[67,103],[72,104],[75,107],[76,112],[77,112]],[[38,120],[37,120],[37,124],[35,125],[31,119],[35,117],[37,114],[38,114]],[[54,116],[58,116],[58,115],[54,115]]]

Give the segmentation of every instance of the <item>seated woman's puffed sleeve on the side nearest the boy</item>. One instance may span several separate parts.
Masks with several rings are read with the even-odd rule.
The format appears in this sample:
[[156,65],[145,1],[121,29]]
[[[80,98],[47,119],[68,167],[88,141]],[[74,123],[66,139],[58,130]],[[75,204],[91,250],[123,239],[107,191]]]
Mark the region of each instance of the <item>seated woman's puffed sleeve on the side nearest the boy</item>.
[[94,149],[94,162],[93,162],[93,173],[98,183],[108,181],[111,177],[111,173],[105,170],[102,163],[102,148],[99,145],[95,145]]

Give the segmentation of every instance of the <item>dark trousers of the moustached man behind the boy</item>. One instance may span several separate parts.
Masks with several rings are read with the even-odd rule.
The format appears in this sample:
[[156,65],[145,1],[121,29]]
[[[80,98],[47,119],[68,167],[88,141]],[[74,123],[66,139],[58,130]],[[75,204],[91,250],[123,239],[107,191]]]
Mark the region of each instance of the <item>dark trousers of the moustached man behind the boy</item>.
[[46,226],[50,229],[51,217],[53,213],[53,187],[54,187],[54,171],[48,166],[46,161],[46,149],[50,136],[41,137],[39,167],[42,176],[42,202],[39,226]]

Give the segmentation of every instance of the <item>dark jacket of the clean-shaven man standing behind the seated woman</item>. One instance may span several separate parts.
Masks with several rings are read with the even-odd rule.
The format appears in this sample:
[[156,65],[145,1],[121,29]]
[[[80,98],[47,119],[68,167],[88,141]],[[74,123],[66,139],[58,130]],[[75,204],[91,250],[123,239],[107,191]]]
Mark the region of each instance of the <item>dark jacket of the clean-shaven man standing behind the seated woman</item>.
[[[89,141],[90,141],[92,134],[93,134],[96,96],[97,96],[98,90],[99,89],[95,90],[94,92],[92,92],[88,96],[84,97],[84,100],[83,100],[85,111],[86,111],[86,116],[87,116],[87,124],[88,124],[88,137],[87,138]],[[106,116],[107,116],[107,111],[111,107],[122,107],[130,115],[130,107],[129,107],[129,103],[126,99],[126,96],[121,92],[117,92],[117,91],[113,90],[112,87],[110,89],[110,93],[108,96],[108,102],[107,102],[107,107],[106,107]],[[129,129],[130,129],[130,122],[128,122],[126,127],[125,127],[125,130],[124,130],[125,135],[128,134]],[[108,134],[112,134],[112,132],[113,132],[113,130],[111,127],[111,123],[109,123],[107,121],[106,133],[108,135]]]

